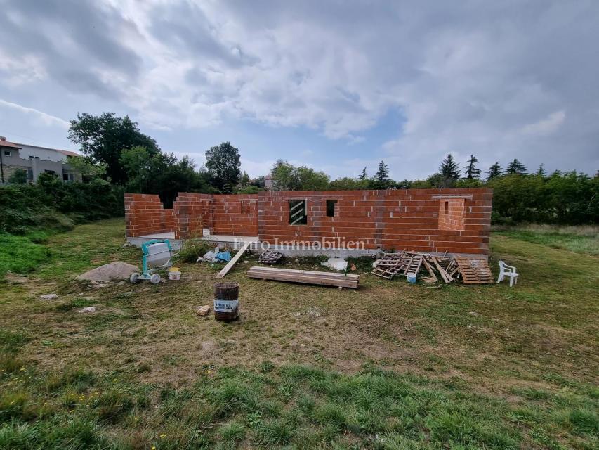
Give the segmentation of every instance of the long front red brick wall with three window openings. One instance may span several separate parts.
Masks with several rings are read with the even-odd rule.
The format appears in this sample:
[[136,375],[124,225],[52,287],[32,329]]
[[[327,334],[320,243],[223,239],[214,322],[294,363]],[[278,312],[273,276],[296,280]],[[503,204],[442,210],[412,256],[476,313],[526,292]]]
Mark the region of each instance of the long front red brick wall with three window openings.
[[[444,229],[440,202],[463,203],[463,229]],[[308,224],[289,225],[289,199],[305,198]],[[327,217],[326,200],[336,199]],[[430,252],[489,252],[492,190],[409,189],[393,191],[264,192],[258,194],[258,236],[279,240],[338,243],[357,240],[367,249]],[[456,226],[457,227],[457,226]]]

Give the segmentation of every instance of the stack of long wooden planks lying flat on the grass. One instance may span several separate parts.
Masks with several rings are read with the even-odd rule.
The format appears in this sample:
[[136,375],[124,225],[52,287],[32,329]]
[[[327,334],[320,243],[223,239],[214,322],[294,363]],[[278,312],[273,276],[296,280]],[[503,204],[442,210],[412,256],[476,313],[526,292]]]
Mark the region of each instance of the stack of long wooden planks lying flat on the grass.
[[250,278],[262,280],[289,281],[291,283],[318,284],[337,286],[338,288],[356,289],[359,275],[336,274],[311,270],[275,269],[274,267],[253,266],[247,272]]

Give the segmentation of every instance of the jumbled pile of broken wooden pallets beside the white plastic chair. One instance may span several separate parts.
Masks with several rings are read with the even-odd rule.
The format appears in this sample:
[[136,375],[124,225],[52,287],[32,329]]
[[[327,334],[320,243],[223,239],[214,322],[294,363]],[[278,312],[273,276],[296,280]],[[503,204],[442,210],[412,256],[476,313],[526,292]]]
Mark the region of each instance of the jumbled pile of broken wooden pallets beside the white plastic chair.
[[460,277],[465,284],[493,283],[491,269],[485,257],[440,256],[404,250],[400,253],[383,253],[373,266],[371,274],[388,280],[397,274],[418,276],[423,269],[428,272],[428,276],[421,279],[427,284],[437,283],[439,278],[444,283],[452,283]]

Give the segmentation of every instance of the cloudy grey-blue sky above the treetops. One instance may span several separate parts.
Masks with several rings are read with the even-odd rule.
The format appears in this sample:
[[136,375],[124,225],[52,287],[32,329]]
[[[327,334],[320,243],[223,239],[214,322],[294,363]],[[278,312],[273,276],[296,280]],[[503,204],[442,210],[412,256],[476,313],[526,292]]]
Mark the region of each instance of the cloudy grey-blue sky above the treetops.
[[231,141],[356,176],[599,169],[599,1],[0,0],[0,134],[76,150],[78,112],[130,115],[163,150]]

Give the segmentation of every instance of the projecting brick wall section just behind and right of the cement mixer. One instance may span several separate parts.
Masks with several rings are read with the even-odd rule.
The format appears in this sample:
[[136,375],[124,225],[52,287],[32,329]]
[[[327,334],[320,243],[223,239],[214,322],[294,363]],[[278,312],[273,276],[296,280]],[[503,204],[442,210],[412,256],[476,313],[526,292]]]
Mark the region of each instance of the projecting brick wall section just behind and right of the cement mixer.
[[212,195],[182,192],[173,202],[175,212],[175,238],[203,235],[204,228],[211,228]]

